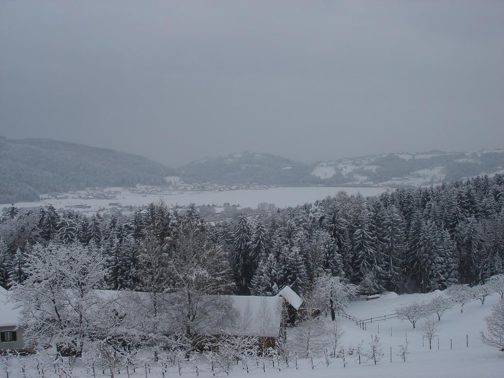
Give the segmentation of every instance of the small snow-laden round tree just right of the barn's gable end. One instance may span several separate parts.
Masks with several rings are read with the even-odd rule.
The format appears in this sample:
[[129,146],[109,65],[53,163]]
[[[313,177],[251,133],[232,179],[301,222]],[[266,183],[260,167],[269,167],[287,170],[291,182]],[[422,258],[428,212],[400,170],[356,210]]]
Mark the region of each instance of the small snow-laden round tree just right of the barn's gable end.
[[315,280],[312,296],[320,310],[331,312],[334,321],[335,312],[342,311],[359,289],[359,286],[346,283],[340,277],[325,273]]

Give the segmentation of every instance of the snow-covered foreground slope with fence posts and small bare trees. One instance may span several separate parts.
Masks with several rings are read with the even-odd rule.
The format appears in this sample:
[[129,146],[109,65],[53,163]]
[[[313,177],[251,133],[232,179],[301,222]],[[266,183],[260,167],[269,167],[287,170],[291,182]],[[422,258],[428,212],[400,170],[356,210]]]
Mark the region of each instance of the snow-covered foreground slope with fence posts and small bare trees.
[[[398,306],[410,304],[415,300],[429,300],[433,296],[439,295],[439,292],[429,294],[407,294],[397,295],[388,293],[379,299],[371,301],[355,301],[347,307],[347,313],[359,319],[368,319],[379,317],[385,314],[391,314]],[[464,307],[464,313],[460,312],[460,307],[456,304],[452,309],[445,312],[439,323],[438,338],[435,337],[432,343],[432,350],[428,348],[428,342],[425,340],[422,345],[422,331],[420,323],[415,330],[409,322],[401,322],[397,318],[387,321],[373,322],[366,325],[366,329],[360,329],[354,322],[344,318],[338,318],[345,335],[341,346],[348,350],[349,347],[357,346],[362,340],[363,349],[368,349],[368,343],[371,335],[378,335],[381,339],[383,357],[376,365],[372,361],[358,364],[355,356],[346,354],[345,365],[342,358],[326,359],[322,356],[313,358],[313,367],[311,359],[297,358],[297,368],[295,362],[295,351],[292,351],[288,359],[288,365],[285,360],[280,361],[280,371],[276,358],[250,360],[246,366],[241,363],[236,365],[229,373],[229,376],[258,376],[258,377],[306,377],[313,376],[317,378],[333,377],[405,377],[424,378],[424,377],[443,377],[443,378],[492,378],[502,377],[504,353],[497,349],[484,345],[480,340],[480,331],[485,330],[484,318],[491,312],[492,305],[500,300],[498,294],[493,294],[487,298],[485,305],[481,306],[477,299],[471,300]],[[329,319],[325,319],[329,322]],[[467,335],[467,339],[466,339]],[[291,335],[289,334],[290,338]],[[408,352],[406,362],[403,362],[397,355],[398,346],[408,340]],[[437,340],[439,339],[439,349]],[[468,343],[467,343],[468,342]],[[450,346],[450,343],[452,346]],[[466,344],[467,343],[467,344]],[[392,348],[392,362],[391,362]],[[299,354],[298,354],[299,356]],[[32,357],[21,357],[27,368],[26,376],[39,376],[34,368],[30,368]],[[257,362],[256,362],[257,361]],[[263,371],[263,362],[265,370]],[[83,362],[77,362],[71,375],[72,377],[93,376],[91,371],[86,371],[84,366],[79,366]],[[275,366],[273,366],[273,364]],[[52,366],[52,365],[51,365]],[[150,373],[145,372],[145,366],[137,367],[136,373],[130,369],[131,376],[147,376],[148,378],[163,376],[161,367],[157,362],[151,364]],[[21,362],[12,360],[10,367],[11,375],[24,376],[21,372]],[[181,364],[182,376],[214,376],[210,371],[210,366],[203,359],[196,359],[191,362]],[[168,371],[164,376],[178,376],[178,363],[168,366]],[[53,369],[46,369],[45,376],[58,376],[53,373]],[[63,375],[66,376],[66,375]],[[101,368],[96,368],[96,376],[102,375]],[[110,374],[108,374],[110,376]],[[127,376],[124,368],[120,374],[115,376]],[[216,376],[226,376],[225,373],[216,374]]]

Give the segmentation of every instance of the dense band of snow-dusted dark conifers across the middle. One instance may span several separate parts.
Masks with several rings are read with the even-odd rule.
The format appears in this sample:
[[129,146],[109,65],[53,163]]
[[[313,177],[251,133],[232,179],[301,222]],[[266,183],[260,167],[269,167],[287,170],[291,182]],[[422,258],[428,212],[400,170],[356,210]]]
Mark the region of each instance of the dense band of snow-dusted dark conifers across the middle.
[[[228,264],[223,272],[229,277],[222,279],[231,283],[226,291],[237,294],[273,295],[284,285],[303,294],[323,274],[358,284],[364,294],[475,285],[504,272],[504,175],[370,198],[340,192],[314,204],[210,223],[196,206],[181,213],[152,203],[131,217],[104,219],[13,205],[0,218],[1,284],[23,282],[34,248],[66,244],[99,251],[107,268],[104,288],[152,290],[156,278],[146,277],[153,271],[163,276],[181,239],[194,232]],[[167,287],[157,289],[168,289],[169,281],[159,279]]]

